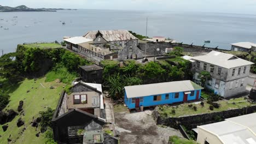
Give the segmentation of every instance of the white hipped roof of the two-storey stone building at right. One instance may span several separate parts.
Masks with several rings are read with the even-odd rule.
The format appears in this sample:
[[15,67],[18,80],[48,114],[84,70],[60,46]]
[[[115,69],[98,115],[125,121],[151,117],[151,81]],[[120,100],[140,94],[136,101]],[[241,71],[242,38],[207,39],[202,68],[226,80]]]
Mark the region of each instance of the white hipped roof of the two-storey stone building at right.
[[210,63],[213,65],[218,65],[219,67],[227,69],[254,64],[252,62],[246,61],[245,59],[238,58],[234,55],[218,51],[211,51],[207,53],[207,55],[193,57],[192,59],[196,61]]

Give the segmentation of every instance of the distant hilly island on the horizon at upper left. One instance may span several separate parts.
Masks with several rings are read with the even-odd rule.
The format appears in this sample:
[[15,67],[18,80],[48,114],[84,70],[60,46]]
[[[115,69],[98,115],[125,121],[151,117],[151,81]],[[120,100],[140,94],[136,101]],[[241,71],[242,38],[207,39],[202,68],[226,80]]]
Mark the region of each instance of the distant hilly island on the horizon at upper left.
[[77,10],[77,9],[60,9],[60,8],[40,8],[32,9],[26,7],[26,5],[20,5],[18,7],[7,7],[0,5],[0,12],[20,12],[20,11],[57,11],[57,10]]

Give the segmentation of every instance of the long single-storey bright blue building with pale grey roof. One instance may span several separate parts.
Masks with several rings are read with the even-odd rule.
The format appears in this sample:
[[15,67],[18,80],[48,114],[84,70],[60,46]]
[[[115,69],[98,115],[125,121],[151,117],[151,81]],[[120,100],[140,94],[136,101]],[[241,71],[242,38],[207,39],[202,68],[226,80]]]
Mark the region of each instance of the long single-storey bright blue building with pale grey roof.
[[125,87],[125,104],[129,109],[198,100],[203,87],[186,81],[154,83]]

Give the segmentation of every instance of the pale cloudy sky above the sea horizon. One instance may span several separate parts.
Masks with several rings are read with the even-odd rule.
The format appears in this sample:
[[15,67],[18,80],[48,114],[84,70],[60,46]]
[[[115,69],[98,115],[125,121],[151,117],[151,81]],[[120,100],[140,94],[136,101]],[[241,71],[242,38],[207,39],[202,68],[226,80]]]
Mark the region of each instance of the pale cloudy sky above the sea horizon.
[[0,0],[0,5],[31,8],[181,10],[256,14],[256,0]]

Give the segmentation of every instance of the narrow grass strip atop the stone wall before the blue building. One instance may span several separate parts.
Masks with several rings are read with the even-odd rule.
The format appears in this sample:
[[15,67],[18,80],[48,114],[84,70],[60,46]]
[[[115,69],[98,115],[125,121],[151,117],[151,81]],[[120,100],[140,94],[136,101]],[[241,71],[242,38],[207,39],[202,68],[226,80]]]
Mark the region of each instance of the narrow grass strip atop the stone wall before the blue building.
[[[196,115],[200,113],[211,113],[211,112],[219,112],[219,111],[225,111],[230,109],[238,109],[246,106],[252,106],[255,104],[251,104],[249,102],[242,102],[242,103],[227,103],[228,101],[234,102],[234,101],[242,101],[243,98],[237,98],[237,99],[230,99],[230,100],[220,100],[218,103],[220,104],[220,107],[218,109],[214,108],[213,111],[209,109],[209,104],[204,101],[204,106],[201,106],[200,104],[193,104],[193,106],[197,107],[197,111],[190,108],[188,105],[190,104],[181,104],[178,105],[176,108],[172,108],[172,106],[160,106],[159,107],[159,113],[164,116],[164,113],[167,113],[167,116],[171,117],[180,117],[180,116],[186,116],[186,115]],[[172,113],[172,110],[175,110],[175,115]]]

